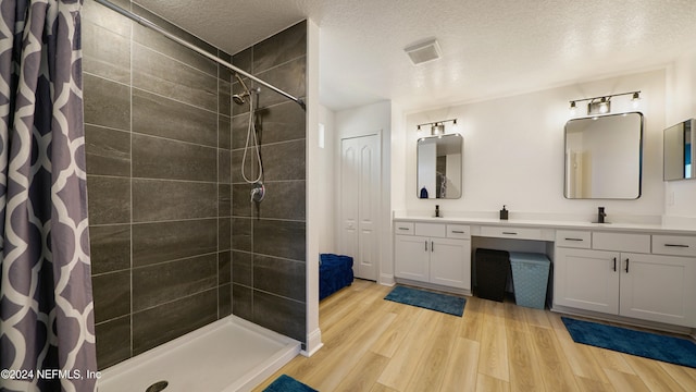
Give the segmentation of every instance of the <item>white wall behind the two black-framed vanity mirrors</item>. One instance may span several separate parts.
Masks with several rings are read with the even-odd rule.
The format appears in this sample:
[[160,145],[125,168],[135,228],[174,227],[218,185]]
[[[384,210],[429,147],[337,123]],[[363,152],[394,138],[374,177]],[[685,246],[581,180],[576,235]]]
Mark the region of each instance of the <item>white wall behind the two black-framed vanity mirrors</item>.
[[[641,198],[566,199],[563,127],[570,120],[569,101],[633,90],[642,91],[637,110],[645,115]],[[511,219],[534,215],[589,220],[596,217],[597,207],[604,206],[609,220],[613,217],[618,221],[620,217],[620,220],[659,221],[664,205],[661,163],[664,96],[666,71],[657,70],[408,114],[406,126],[395,131],[406,140],[402,188],[406,210],[430,213],[439,205],[444,216],[485,211],[496,217],[505,204]],[[624,109],[620,99],[616,101],[613,112]],[[418,134],[417,125],[452,118],[458,119],[458,132],[464,139],[462,197],[421,200],[417,197],[415,146],[417,138],[425,135]],[[450,123],[446,132],[452,132]]]

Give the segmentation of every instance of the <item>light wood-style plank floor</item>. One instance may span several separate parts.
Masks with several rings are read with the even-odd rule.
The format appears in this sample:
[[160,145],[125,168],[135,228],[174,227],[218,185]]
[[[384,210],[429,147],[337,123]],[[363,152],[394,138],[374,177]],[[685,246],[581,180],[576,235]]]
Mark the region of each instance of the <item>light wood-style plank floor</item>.
[[468,297],[463,317],[356,280],[320,304],[324,347],[286,373],[322,391],[696,391],[696,369],[576,344],[560,316]]

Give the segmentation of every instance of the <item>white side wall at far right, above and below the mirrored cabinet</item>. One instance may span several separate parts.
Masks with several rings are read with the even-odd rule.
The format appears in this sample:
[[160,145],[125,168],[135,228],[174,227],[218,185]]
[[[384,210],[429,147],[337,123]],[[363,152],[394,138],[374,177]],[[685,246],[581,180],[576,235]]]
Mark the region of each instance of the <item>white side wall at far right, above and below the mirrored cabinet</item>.
[[[667,124],[696,118],[696,54],[679,59],[669,69]],[[664,221],[696,224],[696,180],[669,181],[664,185]]]

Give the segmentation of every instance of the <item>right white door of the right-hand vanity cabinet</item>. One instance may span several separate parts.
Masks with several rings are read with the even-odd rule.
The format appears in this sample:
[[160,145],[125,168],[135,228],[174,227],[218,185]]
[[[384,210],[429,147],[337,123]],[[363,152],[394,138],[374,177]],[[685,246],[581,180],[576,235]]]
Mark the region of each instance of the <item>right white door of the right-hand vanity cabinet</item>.
[[696,258],[621,254],[622,316],[696,327],[695,286]]

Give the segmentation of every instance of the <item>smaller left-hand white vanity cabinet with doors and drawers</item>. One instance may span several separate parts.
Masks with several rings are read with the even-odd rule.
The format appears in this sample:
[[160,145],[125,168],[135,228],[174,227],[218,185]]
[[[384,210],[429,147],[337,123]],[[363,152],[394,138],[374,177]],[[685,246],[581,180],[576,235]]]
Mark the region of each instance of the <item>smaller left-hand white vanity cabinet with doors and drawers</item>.
[[468,225],[395,222],[395,275],[471,291]]

